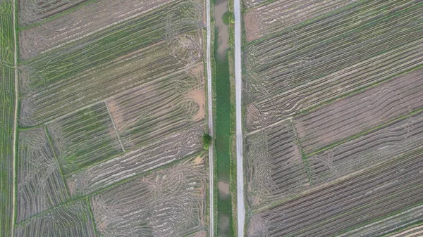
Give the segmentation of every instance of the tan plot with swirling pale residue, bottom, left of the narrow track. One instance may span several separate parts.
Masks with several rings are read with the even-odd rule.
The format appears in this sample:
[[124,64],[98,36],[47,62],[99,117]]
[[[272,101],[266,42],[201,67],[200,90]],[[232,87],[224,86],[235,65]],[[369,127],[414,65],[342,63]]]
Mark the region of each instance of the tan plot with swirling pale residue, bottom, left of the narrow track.
[[204,159],[199,155],[93,196],[99,236],[188,236],[205,230]]

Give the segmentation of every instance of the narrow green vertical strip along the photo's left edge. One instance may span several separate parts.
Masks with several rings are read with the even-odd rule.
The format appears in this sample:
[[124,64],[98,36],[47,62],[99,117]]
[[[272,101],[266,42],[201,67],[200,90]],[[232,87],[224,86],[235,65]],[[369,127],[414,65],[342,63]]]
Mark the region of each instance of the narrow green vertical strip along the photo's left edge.
[[13,121],[15,72],[13,1],[0,3],[0,236],[13,228]]

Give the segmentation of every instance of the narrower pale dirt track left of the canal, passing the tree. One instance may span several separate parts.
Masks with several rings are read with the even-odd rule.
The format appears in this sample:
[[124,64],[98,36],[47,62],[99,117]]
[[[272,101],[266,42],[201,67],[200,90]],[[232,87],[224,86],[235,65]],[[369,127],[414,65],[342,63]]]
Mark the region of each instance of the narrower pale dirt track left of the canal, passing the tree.
[[[210,1],[206,1],[206,24],[207,24],[207,52],[206,52],[206,64],[207,64],[207,108],[209,110],[209,134],[213,134],[213,97],[212,97],[212,64],[210,63],[210,45],[212,40],[212,32],[210,32]],[[214,143],[209,147],[209,209],[210,209],[210,226],[209,233],[210,237],[214,237],[214,161],[213,161]]]

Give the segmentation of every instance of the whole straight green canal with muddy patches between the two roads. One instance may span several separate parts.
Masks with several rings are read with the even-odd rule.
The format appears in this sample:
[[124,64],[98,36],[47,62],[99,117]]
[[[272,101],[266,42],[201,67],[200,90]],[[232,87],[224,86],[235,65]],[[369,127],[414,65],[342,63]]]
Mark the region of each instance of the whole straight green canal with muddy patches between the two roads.
[[214,60],[216,61],[216,184],[217,235],[232,237],[231,200],[231,87],[229,82],[229,28],[223,23],[223,14],[228,11],[227,0],[216,0],[214,5]]

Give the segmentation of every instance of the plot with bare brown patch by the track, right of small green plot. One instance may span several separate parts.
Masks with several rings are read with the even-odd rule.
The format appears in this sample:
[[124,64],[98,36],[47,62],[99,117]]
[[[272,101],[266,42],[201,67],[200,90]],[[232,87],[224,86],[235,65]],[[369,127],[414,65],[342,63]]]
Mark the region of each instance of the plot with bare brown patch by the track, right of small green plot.
[[152,143],[204,122],[202,65],[190,72],[144,84],[107,100],[125,148]]

